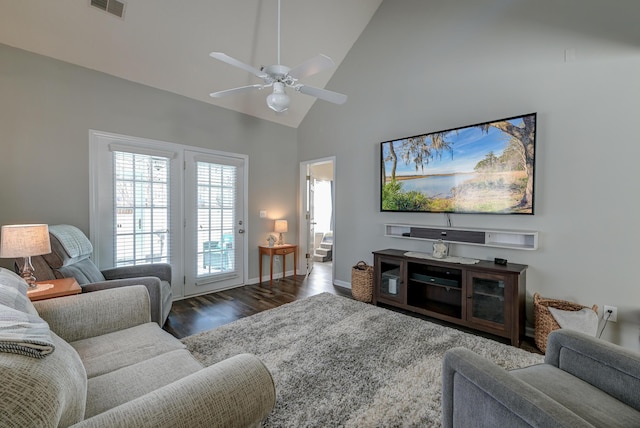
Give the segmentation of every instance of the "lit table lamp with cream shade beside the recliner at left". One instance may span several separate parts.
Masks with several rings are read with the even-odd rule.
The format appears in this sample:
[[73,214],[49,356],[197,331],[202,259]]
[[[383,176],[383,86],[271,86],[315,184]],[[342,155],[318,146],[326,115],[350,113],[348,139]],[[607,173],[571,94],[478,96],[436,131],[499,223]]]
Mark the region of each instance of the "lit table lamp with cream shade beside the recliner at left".
[[46,224],[13,224],[2,226],[0,230],[0,258],[23,257],[24,265],[20,268],[20,276],[31,289],[38,287],[31,256],[50,252],[49,226]]

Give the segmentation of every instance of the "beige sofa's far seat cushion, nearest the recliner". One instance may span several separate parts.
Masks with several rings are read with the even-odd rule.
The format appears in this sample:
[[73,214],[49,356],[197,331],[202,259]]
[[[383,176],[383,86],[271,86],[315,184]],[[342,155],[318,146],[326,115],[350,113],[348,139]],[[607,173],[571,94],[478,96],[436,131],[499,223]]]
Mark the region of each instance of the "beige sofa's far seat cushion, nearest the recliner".
[[71,342],[71,346],[80,354],[89,379],[185,348],[154,322]]

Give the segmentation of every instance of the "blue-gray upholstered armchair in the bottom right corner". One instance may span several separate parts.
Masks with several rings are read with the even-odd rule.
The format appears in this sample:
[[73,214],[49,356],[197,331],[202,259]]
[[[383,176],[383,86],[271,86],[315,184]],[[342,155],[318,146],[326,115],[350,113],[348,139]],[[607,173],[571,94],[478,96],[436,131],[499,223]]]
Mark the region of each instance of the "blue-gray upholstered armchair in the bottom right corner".
[[571,330],[544,364],[507,371],[468,349],[445,353],[444,427],[638,427],[640,354]]

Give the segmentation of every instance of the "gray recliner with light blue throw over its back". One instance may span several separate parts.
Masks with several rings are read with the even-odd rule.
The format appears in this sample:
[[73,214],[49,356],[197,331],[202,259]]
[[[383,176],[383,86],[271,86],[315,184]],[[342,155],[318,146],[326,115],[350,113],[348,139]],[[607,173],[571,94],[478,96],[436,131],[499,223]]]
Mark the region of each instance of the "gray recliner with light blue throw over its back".
[[32,257],[38,280],[70,278],[82,292],[144,285],[149,291],[151,320],[163,326],[171,310],[171,265],[154,263],[100,270],[91,260],[93,246],[77,227],[49,226],[51,253]]

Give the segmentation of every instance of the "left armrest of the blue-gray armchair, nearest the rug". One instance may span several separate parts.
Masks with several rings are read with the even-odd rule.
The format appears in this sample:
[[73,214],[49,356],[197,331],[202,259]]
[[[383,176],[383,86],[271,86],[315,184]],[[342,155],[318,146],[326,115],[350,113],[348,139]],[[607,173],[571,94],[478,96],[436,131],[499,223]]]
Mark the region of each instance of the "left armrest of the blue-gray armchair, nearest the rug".
[[442,367],[442,426],[591,426],[507,370],[466,348]]

